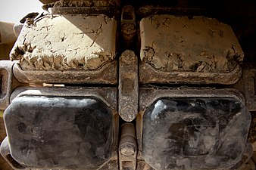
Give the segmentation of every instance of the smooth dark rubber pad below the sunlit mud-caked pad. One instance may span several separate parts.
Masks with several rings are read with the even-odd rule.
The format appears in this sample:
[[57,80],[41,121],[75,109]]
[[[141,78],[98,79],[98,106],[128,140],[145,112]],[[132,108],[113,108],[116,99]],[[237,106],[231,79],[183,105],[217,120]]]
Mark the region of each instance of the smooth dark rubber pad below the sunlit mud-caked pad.
[[111,158],[113,116],[94,98],[18,97],[5,123],[11,155],[25,167],[98,169]]

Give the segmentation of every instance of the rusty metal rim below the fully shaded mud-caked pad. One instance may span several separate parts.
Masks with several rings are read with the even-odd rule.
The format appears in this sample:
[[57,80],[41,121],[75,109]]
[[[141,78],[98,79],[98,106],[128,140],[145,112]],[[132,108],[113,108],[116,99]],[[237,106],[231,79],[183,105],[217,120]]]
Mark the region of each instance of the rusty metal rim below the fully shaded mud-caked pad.
[[239,65],[227,73],[196,73],[196,72],[164,72],[156,70],[149,63],[140,63],[139,82],[141,84],[158,83],[158,84],[220,84],[233,85],[239,81],[242,76],[242,69]]

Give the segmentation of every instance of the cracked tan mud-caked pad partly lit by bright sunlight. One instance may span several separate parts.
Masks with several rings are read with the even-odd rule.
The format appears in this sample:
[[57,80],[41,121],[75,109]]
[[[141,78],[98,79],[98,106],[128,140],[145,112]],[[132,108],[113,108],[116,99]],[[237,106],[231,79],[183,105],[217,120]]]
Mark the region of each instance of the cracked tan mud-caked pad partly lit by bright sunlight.
[[23,70],[97,70],[114,60],[116,32],[105,15],[46,15],[23,26],[10,57]]

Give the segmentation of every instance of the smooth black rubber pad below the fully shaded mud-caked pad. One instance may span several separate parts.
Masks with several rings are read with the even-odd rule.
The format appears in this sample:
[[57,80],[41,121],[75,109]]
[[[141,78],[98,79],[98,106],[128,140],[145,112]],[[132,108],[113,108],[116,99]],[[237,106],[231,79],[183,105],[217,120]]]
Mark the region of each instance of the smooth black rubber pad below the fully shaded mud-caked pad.
[[143,158],[155,169],[232,168],[250,122],[234,98],[161,98],[143,117]]

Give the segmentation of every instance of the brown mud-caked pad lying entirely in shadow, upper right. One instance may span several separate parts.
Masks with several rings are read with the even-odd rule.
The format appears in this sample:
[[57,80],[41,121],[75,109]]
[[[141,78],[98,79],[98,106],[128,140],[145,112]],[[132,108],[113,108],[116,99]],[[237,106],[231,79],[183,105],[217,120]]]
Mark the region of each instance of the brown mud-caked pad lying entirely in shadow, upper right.
[[207,17],[145,17],[140,36],[141,60],[162,71],[229,72],[244,57],[232,28]]

